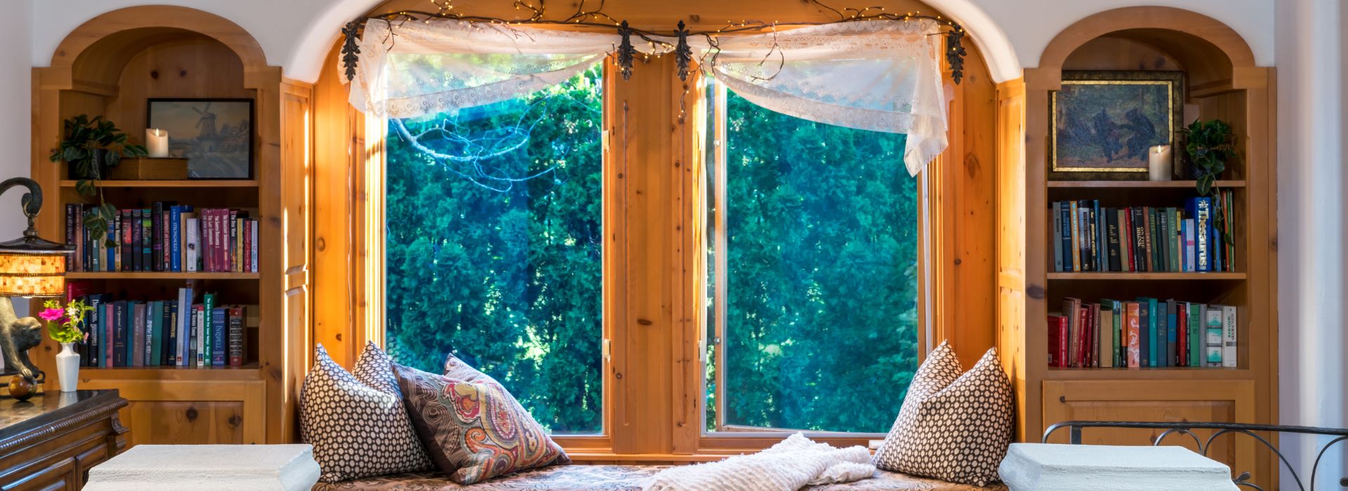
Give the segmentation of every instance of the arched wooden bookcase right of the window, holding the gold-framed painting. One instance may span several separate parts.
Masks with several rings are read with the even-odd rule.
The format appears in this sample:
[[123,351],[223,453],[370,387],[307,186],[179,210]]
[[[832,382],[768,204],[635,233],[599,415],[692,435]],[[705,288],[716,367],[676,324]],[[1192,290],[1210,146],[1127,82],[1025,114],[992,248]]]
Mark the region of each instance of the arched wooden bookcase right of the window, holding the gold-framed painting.
[[[1182,207],[1184,198],[1197,195],[1193,182],[1050,180],[1049,98],[1061,89],[1064,70],[1182,70],[1186,105],[1197,109],[1202,120],[1232,124],[1239,157],[1220,176],[1220,184],[1235,192],[1233,272],[1054,272],[1049,242],[1053,222],[1047,211],[1051,202],[1099,199],[1103,206],[1173,202],[1177,204],[1155,206]],[[1018,137],[1023,136],[1019,139],[1024,145],[1023,169],[1003,169],[1011,178],[1003,179],[1010,183],[1003,191],[1023,194],[1024,209],[999,215],[1003,231],[999,344],[1014,359],[1008,365],[1019,395],[1020,440],[1038,441],[1045,428],[1065,420],[1278,421],[1274,83],[1274,69],[1256,66],[1240,35],[1220,22],[1175,8],[1131,7],[1096,13],[1060,32],[1045,48],[1039,67],[1027,69],[1022,83],[1002,87],[999,98],[1004,106],[1023,105],[1023,120],[1004,114],[1000,132],[1003,155],[1014,153]],[[1046,316],[1058,309],[1064,297],[1135,296],[1235,305],[1240,319],[1239,366],[1047,366]],[[1130,430],[1086,432],[1085,437],[1093,444],[1148,443],[1144,432]],[[1181,441],[1173,439],[1167,444]],[[1277,467],[1267,452],[1255,447],[1247,437],[1223,436],[1212,456],[1231,464],[1236,474],[1252,472],[1254,482],[1268,488],[1277,479]]]

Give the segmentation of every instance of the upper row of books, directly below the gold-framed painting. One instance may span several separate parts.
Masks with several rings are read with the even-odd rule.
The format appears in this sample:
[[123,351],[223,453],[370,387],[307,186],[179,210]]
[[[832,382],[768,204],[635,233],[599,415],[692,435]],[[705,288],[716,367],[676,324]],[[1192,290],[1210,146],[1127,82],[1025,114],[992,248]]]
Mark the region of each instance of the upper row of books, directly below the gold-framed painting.
[[1232,191],[1184,209],[1053,202],[1055,272],[1233,272]]

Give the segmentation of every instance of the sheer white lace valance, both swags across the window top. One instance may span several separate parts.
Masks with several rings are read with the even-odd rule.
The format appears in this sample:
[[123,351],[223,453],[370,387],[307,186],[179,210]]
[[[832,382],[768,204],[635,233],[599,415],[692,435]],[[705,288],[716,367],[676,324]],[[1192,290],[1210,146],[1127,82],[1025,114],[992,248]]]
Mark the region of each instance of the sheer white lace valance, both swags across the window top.
[[[754,104],[907,135],[903,161],[917,175],[946,147],[940,32],[926,19],[869,20],[689,43],[709,75]],[[395,118],[499,102],[561,83],[620,42],[613,34],[458,20],[371,22],[350,102]]]

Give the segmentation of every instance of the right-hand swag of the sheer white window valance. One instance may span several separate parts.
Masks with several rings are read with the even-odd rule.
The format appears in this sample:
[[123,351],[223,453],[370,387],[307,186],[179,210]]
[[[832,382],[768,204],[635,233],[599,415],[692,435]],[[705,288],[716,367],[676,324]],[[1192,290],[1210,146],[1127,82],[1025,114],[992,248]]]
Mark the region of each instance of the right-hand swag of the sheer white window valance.
[[721,36],[704,59],[763,108],[838,126],[905,133],[917,175],[946,147],[942,38],[934,20],[868,20]]

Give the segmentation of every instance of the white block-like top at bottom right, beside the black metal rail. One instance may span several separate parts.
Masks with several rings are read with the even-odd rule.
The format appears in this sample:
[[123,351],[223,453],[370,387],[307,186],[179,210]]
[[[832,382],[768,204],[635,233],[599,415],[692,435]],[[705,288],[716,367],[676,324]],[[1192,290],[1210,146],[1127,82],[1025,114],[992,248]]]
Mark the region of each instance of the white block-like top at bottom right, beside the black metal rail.
[[1184,447],[1011,444],[998,468],[1011,491],[1232,491],[1231,468]]

